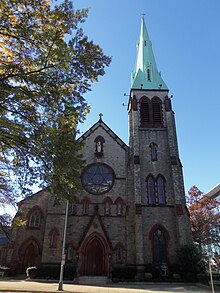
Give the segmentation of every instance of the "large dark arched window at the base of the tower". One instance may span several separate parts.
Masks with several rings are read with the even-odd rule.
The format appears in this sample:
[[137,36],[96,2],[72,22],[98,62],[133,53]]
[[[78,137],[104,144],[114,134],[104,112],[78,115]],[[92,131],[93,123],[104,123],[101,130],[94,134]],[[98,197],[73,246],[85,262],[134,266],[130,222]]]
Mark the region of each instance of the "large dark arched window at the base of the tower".
[[153,235],[153,260],[156,265],[167,262],[166,239],[160,229],[157,229]]

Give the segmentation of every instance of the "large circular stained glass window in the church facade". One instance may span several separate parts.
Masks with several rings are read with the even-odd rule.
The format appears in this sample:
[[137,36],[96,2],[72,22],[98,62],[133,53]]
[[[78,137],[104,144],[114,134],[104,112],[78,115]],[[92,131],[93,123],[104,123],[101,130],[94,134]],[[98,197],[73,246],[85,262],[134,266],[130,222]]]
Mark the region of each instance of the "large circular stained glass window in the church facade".
[[82,185],[92,194],[108,192],[114,184],[114,172],[105,164],[92,164],[86,167],[82,174]]

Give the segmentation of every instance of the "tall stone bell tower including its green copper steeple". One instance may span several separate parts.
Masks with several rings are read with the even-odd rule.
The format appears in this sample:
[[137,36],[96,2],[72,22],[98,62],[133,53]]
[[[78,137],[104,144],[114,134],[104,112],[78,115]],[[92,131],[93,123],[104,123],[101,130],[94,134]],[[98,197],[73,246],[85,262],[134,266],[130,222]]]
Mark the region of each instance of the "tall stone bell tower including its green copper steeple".
[[171,98],[143,16],[128,116],[127,255],[141,273],[147,263],[174,263],[177,249],[191,239]]

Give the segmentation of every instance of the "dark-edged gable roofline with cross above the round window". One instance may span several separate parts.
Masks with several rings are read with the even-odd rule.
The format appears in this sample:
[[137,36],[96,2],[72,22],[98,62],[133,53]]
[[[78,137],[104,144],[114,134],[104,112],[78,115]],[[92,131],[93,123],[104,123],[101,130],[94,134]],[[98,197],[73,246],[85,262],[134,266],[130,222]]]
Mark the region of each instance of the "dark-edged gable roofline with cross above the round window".
[[118,143],[125,151],[128,151],[128,146],[115,134],[107,124],[105,124],[100,117],[100,119],[90,127],[82,136],[78,138],[78,141],[83,142],[87,137],[89,137],[95,130],[101,127],[110,137],[112,137],[116,143]]

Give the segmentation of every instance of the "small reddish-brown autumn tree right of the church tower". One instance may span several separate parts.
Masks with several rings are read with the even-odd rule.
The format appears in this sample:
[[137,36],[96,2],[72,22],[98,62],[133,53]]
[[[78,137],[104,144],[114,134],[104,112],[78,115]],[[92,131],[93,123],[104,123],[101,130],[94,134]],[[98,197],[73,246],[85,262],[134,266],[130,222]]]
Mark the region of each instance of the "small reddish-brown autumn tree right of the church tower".
[[198,244],[200,251],[210,245],[219,245],[220,214],[216,212],[219,202],[204,195],[196,186],[192,186],[188,192],[187,204],[193,240]]

